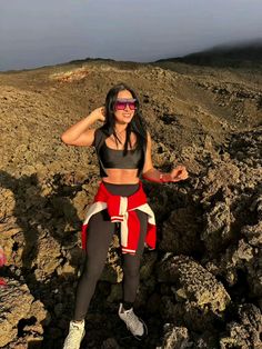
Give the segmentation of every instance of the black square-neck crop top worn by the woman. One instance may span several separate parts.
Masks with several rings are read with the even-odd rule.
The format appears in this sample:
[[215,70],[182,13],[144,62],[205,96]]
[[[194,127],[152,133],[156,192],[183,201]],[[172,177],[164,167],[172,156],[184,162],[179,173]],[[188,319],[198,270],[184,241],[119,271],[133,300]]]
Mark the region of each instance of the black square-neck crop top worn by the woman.
[[107,146],[105,134],[98,129],[94,133],[94,147],[100,163],[100,176],[108,177],[107,169],[139,169],[139,174],[142,171],[144,162],[144,149],[128,150],[123,156],[123,150],[111,149]]

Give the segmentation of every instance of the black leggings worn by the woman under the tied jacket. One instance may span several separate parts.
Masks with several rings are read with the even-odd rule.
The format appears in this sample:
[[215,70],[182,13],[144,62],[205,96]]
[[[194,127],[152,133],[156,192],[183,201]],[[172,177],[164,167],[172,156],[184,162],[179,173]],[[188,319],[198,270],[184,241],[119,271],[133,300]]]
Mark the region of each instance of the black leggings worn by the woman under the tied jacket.
[[[111,185],[104,182],[104,185],[112,195],[120,195],[122,197],[129,197],[139,189],[139,183]],[[135,300],[139,286],[140,261],[144,249],[148,226],[147,213],[137,210],[137,215],[141,227],[137,252],[134,256],[129,253],[122,255],[123,301],[129,303]],[[87,231],[87,258],[75,292],[74,320],[84,319],[88,312],[90,300],[107,261],[110,242],[117,231],[117,225],[118,223],[110,221],[107,209],[93,215],[89,220]]]

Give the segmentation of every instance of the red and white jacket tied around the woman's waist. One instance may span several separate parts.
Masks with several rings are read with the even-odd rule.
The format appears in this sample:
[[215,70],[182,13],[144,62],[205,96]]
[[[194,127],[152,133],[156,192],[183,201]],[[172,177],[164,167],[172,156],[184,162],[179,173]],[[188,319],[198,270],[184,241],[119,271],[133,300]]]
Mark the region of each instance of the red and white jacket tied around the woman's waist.
[[100,183],[94,202],[89,207],[83,226],[82,226],[82,249],[87,246],[87,229],[89,219],[108,209],[111,222],[120,222],[121,230],[121,249],[123,253],[134,255],[139,243],[140,220],[135,210],[143,211],[148,215],[148,231],[145,243],[149,248],[155,248],[157,229],[154,213],[147,202],[147,196],[139,183],[139,189],[130,197],[111,195],[103,182]]

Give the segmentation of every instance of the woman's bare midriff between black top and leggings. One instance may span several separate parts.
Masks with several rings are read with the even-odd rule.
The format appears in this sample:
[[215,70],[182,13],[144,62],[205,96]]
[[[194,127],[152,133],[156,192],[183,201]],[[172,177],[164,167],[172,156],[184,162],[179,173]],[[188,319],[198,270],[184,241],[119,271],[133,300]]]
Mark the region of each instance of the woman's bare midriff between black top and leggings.
[[108,177],[102,180],[112,185],[137,185],[138,169],[105,169]]

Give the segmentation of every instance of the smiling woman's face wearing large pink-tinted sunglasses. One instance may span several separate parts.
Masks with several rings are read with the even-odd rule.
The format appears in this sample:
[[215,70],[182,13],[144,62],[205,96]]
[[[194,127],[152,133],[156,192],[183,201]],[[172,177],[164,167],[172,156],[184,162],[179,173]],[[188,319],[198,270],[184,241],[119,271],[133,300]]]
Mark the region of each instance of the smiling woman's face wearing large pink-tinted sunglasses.
[[[124,109],[121,110],[117,108],[118,101],[120,102],[120,104],[122,104],[121,108],[124,108]],[[118,100],[117,100],[115,109],[114,109],[114,117],[115,117],[117,123],[121,123],[121,124],[129,123],[132,120],[135,110],[130,109],[129,102],[132,108],[134,103],[132,93],[128,90],[120,91],[118,93]]]

